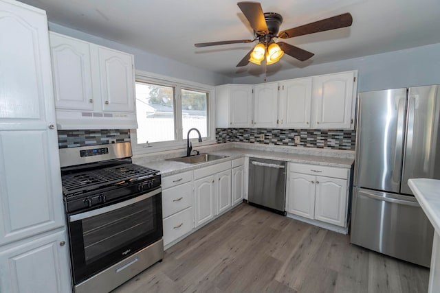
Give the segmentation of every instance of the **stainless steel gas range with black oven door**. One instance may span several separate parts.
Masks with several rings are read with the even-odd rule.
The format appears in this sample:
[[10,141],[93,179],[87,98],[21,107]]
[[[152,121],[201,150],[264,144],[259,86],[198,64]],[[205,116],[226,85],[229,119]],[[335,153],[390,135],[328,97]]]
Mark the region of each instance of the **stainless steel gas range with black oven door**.
[[131,163],[130,143],[60,149],[75,292],[109,292],[161,261],[157,170]]

